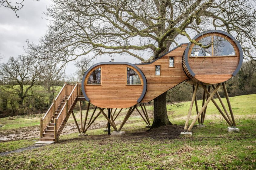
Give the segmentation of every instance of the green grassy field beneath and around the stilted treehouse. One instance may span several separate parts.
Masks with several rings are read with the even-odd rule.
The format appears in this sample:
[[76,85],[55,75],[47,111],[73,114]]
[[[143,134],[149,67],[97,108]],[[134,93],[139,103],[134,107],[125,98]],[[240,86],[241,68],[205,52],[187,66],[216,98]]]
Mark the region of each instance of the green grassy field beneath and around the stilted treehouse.
[[[216,99],[215,99],[216,100]],[[145,123],[132,114],[124,136],[108,136],[101,115],[88,136],[78,133],[61,135],[59,143],[0,156],[2,169],[256,169],[256,95],[230,98],[240,133],[228,133],[228,124],[210,102],[205,129],[192,129],[192,137],[179,136],[185,124],[190,102],[181,107],[168,106],[168,116],[175,125],[146,131]],[[216,100],[217,101],[217,100]],[[225,101],[223,99],[223,101]],[[202,101],[198,101],[201,105]],[[152,106],[147,110],[152,120]],[[90,110],[90,113],[92,110]],[[85,114],[85,111],[83,111]],[[78,112],[75,112],[79,120]],[[195,108],[190,121],[195,116]],[[123,111],[116,120],[120,124]],[[39,117],[1,118],[0,133],[38,127]],[[68,123],[73,123],[70,118]],[[78,122],[79,124],[79,122]],[[38,134],[39,135],[39,134]],[[32,146],[38,137],[0,142],[0,152]],[[0,169],[1,169],[0,168]]]

